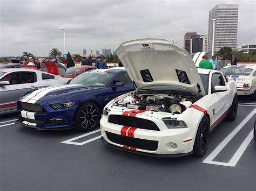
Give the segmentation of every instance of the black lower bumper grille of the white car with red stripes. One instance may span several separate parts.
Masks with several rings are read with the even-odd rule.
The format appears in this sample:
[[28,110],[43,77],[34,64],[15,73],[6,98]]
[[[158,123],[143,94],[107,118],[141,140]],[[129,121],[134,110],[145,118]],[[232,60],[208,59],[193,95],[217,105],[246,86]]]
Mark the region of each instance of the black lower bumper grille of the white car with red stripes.
[[106,136],[111,142],[117,143],[119,145],[126,145],[149,151],[156,151],[158,147],[158,141],[156,140],[145,140],[132,137],[125,137],[107,131]]

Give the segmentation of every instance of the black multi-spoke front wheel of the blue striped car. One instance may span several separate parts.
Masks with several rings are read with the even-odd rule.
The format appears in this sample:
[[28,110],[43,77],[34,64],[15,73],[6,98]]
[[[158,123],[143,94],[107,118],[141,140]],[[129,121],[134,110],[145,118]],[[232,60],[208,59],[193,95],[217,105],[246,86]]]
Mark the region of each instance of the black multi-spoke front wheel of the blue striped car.
[[99,124],[100,111],[93,102],[84,103],[76,112],[75,128],[80,131],[91,131]]

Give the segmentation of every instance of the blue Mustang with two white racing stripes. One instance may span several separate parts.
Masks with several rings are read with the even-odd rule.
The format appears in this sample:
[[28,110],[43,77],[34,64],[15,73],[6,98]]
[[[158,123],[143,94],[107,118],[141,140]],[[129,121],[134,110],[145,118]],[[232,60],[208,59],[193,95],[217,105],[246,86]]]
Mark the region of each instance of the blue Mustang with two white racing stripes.
[[16,124],[39,130],[90,131],[99,123],[104,106],[113,98],[132,91],[123,67],[85,72],[63,86],[30,91],[18,101]]

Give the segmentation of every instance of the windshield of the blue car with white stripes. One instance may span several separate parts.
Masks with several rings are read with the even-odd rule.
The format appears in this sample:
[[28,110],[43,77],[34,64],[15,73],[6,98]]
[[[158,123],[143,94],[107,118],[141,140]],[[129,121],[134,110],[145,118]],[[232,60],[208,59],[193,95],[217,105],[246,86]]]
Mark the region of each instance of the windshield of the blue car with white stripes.
[[70,84],[83,84],[91,87],[105,87],[113,76],[113,73],[107,72],[85,72],[71,80]]

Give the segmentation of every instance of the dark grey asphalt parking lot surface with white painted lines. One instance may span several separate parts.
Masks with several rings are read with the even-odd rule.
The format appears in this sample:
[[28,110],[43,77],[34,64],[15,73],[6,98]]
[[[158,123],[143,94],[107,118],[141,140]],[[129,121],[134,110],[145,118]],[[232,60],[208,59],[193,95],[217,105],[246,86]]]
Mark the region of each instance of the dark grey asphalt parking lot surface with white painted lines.
[[146,157],[106,147],[99,129],[38,131],[0,116],[0,190],[256,190],[255,112],[239,97],[203,158]]

